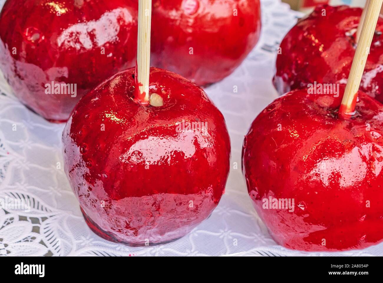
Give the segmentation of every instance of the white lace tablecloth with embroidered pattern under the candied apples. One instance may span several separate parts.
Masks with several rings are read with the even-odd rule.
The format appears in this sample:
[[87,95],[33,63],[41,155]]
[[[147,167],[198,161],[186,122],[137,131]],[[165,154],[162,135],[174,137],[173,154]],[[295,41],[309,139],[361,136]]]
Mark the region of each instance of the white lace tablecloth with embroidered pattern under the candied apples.
[[226,193],[210,218],[169,244],[129,247],[90,231],[62,166],[64,124],[51,124],[21,105],[0,74],[0,198],[31,199],[29,212],[0,209],[0,255],[383,255],[383,244],[343,253],[288,250],[271,239],[255,213],[241,172],[242,141],[253,119],[277,97],[271,82],[276,49],[300,15],[280,0],[261,2],[257,47],[234,74],[206,89],[231,137]]

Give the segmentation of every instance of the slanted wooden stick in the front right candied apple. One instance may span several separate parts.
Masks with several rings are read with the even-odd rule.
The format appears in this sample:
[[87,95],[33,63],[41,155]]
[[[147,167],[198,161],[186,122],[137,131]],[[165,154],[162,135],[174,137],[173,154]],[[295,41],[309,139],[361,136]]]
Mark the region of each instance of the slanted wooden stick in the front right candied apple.
[[358,97],[360,81],[362,80],[364,67],[366,65],[368,53],[375,33],[376,23],[380,14],[380,8],[383,0],[369,1],[365,20],[363,23],[360,39],[355,51],[354,60],[350,70],[349,79],[344,91],[342,104],[339,108],[339,117],[343,119],[350,118],[355,112],[355,103]]

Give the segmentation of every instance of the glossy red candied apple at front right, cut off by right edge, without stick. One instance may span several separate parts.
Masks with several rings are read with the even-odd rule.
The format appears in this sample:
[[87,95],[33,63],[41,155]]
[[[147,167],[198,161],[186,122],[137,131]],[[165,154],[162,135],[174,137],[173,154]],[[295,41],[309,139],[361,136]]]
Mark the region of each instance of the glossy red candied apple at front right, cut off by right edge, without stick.
[[[245,137],[249,195],[285,247],[336,251],[383,240],[383,105],[359,92],[356,115],[339,119],[343,92],[338,98],[289,92],[259,114]],[[267,209],[270,197],[294,200],[294,210]]]

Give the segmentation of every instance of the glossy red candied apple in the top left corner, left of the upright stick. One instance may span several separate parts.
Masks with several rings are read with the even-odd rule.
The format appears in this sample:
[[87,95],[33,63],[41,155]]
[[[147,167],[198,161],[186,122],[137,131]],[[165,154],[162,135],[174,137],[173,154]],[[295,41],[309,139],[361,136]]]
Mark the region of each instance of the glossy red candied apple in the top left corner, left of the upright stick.
[[[134,66],[137,10],[133,0],[8,0],[0,68],[16,97],[48,120],[66,121],[85,93]],[[52,82],[56,94],[46,92]]]

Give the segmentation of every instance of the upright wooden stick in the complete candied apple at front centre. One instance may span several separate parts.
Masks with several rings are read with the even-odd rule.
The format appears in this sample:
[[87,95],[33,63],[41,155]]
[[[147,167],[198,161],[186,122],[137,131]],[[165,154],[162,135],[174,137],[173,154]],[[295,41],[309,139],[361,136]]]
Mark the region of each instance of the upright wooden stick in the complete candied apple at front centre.
[[141,103],[149,102],[152,0],[138,1],[137,79]]

